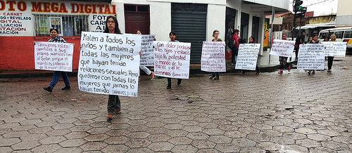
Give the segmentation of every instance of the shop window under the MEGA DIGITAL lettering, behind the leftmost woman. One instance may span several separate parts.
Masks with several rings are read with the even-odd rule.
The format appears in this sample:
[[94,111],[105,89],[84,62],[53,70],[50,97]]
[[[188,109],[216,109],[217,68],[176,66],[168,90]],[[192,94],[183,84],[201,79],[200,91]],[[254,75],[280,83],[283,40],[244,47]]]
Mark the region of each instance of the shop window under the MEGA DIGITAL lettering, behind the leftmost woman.
[[59,36],[80,36],[88,31],[87,15],[34,15],[35,36],[49,36],[50,28],[56,27]]

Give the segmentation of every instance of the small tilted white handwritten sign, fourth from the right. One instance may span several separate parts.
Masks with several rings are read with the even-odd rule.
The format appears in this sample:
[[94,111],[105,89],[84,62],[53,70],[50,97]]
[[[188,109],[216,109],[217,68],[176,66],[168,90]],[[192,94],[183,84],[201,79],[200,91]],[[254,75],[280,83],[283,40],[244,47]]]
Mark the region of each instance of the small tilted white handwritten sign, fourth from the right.
[[256,70],[260,44],[239,44],[236,69]]

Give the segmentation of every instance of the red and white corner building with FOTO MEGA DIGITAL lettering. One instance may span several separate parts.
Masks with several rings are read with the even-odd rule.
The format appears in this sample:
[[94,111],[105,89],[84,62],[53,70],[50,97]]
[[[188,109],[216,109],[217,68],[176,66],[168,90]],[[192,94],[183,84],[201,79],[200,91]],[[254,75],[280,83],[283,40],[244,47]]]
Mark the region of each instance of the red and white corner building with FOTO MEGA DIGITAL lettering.
[[116,15],[122,33],[139,29],[155,34],[158,41],[169,41],[169,32],[176,32],[177,40],[191,42],[191,63],[198,64],[201,44],[213,39],[215,29],[224,41],[240,29],[241,39],[253,36],[263,44],[265,15],[273,8],[287,12],[289,0],[0,0],[0,70],[34,69],[33,41],[49,40],[50,27],[75,44],[77,69],[80,32],[102,32],[108,15]]

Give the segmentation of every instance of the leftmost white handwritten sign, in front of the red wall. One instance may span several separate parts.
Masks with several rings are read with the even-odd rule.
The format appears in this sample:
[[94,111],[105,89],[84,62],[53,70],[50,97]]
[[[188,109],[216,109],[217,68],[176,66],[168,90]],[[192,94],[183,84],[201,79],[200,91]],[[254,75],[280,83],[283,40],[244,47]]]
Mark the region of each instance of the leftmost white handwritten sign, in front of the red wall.
[[73,44],[34,43],[35,69],[72,72]]

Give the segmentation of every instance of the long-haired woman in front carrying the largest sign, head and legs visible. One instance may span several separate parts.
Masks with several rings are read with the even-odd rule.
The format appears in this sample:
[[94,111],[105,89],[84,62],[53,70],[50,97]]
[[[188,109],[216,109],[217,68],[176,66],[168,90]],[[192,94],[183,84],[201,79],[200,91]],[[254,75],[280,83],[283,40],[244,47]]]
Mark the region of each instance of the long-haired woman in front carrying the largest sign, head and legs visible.
[[[115,16],[110,15],[106,18],[105,29],[103,33],[109,34],[121,34],[118,28],[118,19]],[[118,114],[121,110],[121,102],[118,95],[108,95],[108,115],[107,119],[113,119],[113,114]]]

